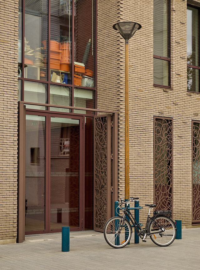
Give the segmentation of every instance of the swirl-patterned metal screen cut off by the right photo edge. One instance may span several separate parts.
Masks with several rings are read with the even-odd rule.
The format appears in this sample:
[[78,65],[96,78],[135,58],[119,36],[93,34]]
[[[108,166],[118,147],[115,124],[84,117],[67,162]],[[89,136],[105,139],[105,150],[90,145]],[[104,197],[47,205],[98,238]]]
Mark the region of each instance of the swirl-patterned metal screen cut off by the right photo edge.
[[200,122],[192,122],[192,223],[200,222]]

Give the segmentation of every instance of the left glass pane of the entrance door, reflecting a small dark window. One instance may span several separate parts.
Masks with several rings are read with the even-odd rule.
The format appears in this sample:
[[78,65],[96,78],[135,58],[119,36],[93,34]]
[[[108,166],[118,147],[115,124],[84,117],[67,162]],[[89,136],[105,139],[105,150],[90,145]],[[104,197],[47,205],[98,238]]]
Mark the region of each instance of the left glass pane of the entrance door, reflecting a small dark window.
[[45,117],[26,115],[25,231],[45,229]]

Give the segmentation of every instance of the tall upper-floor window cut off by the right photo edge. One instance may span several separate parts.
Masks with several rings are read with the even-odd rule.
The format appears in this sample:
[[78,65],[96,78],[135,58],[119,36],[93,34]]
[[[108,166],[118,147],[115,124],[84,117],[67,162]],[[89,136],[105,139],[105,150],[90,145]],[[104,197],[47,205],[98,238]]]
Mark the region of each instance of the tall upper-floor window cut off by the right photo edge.
[[199,92],[199,10],[187,7],[187,91]]

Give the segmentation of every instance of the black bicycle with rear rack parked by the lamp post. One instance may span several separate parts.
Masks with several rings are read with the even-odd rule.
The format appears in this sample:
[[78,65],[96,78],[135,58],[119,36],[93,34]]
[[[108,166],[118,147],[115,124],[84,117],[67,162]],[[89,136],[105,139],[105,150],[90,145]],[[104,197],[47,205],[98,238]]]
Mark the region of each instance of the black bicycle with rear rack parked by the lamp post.
[[[145,204],[149,207],[148,217],[145,229],[143,230],[140,223],[136,222],[132,213],[128,210],[128,205],[131,201],[136,201],[139,198],[130,198],[128,201],[121,199],[118,203],[118,208],[123,211],[123,215],[110,218],[104,227],[104,238],[106,242],[115,248],[125,247],[131,239],[132,227],[126,216],[129,217],[136,229],[136,232],[143,242],[149,236],[151,240],[160,247],[166,247],[172,244],[176,237],[176,224],[172,220],[172,211],[154,211],[153,217],[150,217],[151,208],[156,204]],[[125,203],[125,209],[122,204]]]

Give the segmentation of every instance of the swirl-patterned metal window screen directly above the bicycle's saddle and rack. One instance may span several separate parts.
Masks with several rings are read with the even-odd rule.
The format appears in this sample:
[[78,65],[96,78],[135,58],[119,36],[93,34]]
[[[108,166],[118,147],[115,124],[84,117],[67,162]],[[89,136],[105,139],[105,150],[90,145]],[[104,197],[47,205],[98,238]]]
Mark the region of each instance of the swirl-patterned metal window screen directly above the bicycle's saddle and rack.
[[154,203],[156,210],[172,210],[172,119],[154,118]]

